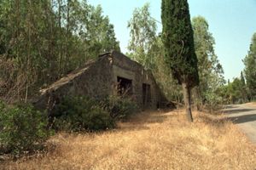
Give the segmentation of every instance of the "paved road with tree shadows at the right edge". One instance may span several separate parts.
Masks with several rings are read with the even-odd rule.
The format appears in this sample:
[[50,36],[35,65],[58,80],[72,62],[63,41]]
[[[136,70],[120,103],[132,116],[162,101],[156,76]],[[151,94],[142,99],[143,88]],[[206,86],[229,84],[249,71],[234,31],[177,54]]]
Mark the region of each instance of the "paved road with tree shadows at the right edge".
[[227,105],[224,114],[256,144],[256,105]]

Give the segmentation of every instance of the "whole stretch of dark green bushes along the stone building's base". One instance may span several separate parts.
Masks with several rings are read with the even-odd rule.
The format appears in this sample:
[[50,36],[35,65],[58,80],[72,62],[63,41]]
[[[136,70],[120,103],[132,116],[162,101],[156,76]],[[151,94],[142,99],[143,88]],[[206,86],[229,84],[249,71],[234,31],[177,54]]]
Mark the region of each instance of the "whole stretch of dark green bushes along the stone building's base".
[[64,131],[98,131],[115,127],[115,122],[137,111],[131,99],[106,97],[66,97],[57,105],[53,127]]

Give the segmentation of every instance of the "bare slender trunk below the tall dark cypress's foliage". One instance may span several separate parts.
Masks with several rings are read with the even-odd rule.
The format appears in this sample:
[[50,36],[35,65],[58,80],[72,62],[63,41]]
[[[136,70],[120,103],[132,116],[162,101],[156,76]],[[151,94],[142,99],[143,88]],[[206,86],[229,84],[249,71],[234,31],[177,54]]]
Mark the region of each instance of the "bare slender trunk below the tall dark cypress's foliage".
[[189,122],[193,122],[193,117],[191,113],[191,93],[190,93],[190,88],[186,83],[182,83],[183,86],[183,98],[184,98],[184,103],[186,107],[186,112],[187,112],[187,117]]

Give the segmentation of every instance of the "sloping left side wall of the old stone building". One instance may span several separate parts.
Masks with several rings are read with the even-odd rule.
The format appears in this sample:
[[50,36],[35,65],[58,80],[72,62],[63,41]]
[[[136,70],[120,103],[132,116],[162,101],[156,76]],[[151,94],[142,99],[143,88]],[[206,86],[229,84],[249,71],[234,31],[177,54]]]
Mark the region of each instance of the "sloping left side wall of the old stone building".
[[110,95],[113,84],[112,74],[111,58],[99,58],[86,65],[84,69],[74,71],[53,83],[49,88],[43,89],[35,106],[50,112],[64,96],[84,95],[98,98]]

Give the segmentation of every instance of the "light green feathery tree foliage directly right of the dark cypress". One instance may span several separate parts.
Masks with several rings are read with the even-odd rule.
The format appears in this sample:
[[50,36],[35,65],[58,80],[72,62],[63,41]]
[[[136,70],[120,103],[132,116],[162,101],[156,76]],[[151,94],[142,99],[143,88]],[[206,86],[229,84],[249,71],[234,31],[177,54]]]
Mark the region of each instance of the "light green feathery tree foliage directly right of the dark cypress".
[[[212,86],[212,77],[218,79],[218,87],[224,83],[224,71],[214,51],[215,40],[208,31],[207,20],[197,16],[192,20],[195,53],[198,59],[198,72],[200,77],[201,92],[207,91]],[[214,84],[216,86],[217,84]]]

